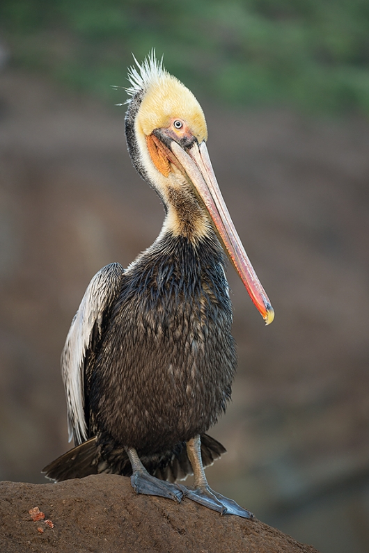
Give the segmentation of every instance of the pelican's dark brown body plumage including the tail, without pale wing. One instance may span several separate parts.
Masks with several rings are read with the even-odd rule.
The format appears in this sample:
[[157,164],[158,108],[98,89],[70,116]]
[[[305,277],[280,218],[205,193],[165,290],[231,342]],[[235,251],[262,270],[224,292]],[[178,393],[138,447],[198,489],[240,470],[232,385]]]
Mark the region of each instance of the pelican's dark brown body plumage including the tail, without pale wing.
[[124,273],[119,264],[97,273],[93,289],[109,274],[120,289],[84,362],[84,419],[96,439],[75,435],[79,446],[45,468],[50,478],[129,476],[125,447],[134,447],[150,474],[175,481],[192,472],[194,435],[205,466],[226,451],[205,434],[226,410],[237,364],[224,264],[214,233],[196,244],[164,234]]

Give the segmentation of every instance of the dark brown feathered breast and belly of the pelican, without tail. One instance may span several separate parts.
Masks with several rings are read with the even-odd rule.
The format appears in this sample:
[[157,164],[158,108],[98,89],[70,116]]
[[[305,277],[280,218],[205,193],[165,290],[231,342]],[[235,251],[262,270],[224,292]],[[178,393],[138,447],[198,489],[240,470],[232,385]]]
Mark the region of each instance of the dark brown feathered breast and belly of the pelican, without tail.
[[236,355],[224,262],[215,236],[168,234],[127,270],[91,380],[100,431],[159,451],[225,410]]

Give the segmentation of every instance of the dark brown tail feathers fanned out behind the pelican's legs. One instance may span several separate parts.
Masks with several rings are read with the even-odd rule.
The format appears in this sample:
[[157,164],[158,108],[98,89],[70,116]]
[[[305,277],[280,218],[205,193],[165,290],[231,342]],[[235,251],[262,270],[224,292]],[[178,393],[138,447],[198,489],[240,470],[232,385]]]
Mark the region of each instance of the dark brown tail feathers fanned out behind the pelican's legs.
[[[207,434],[201,435],[204,467],[212,465],[225,452],[226,449],[217,440]],[[175,482],[193,474],[185,442],[177,444],[172,451],[140,458],[148,472],[161,480]],[[102,472],[131,476],[132,467],[123,447],[114,446],[111,442],[97,444],[94,436],[49,463],[42,472],[47,478],[59,482]]]

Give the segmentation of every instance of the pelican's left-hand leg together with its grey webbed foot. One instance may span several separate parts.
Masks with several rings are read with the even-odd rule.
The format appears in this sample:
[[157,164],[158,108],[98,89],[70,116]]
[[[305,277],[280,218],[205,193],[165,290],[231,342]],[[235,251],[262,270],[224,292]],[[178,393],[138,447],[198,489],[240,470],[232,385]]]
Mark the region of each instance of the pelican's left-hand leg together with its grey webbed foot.
[[149,474],[141,463],[136,449],[127,448],[126,451],[132,465],[131,484],[136,494],[159,495],[173,499],[173,501],[177,501],[178,503],[181,502],[183,493],[178,486],[164,480],[159,480]]

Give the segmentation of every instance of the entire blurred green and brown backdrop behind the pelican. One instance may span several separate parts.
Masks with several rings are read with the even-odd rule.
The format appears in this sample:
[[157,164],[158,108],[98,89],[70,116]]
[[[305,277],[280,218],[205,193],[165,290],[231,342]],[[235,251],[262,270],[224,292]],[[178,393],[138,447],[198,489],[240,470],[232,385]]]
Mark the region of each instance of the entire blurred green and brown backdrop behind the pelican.
[[2,0],[0,479],[70,445],[59,358],[94,273],[163,209],[124,137],[127,65],[152,47],[201,102],[237,230],[239,370],[210,485],[322,553],[369,550],[367,0]]

